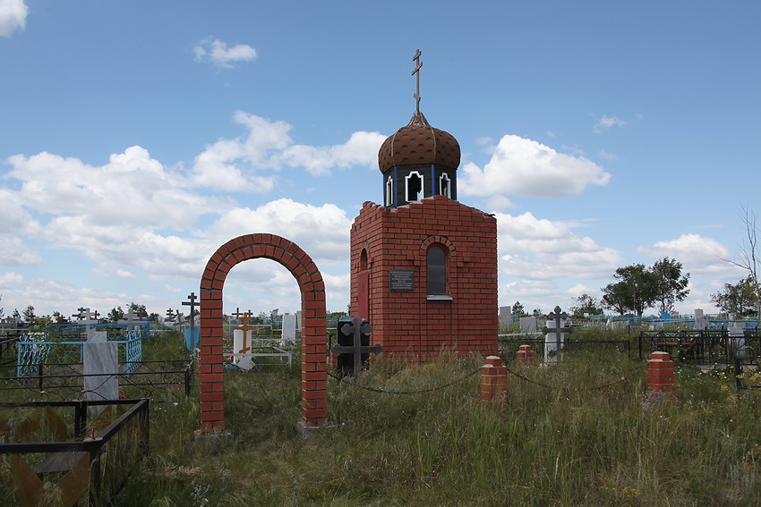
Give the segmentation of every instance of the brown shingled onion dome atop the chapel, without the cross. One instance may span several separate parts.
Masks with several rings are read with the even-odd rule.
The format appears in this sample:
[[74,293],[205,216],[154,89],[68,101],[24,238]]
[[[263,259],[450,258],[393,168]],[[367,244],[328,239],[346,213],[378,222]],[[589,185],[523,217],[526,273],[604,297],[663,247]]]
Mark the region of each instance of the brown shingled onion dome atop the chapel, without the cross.
[[457,169],[460,145],[449,132],[433,128],[418,111],[405,127],[383,141],[378,165],[381,173],[386,173],[395,165],[427,164]]

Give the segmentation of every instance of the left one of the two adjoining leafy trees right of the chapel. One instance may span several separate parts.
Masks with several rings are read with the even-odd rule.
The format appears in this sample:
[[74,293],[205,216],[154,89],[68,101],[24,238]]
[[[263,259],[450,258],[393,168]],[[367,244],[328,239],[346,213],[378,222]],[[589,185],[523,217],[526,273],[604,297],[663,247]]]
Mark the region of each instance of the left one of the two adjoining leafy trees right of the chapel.
[[619,267],[613,278],[616,283],[609,283],[603,288],[603,302],[608,308],[615,309],[623,315],[632,310],[642,318],[646,308],[653,306],[657,296],[660,278],[644,264]]

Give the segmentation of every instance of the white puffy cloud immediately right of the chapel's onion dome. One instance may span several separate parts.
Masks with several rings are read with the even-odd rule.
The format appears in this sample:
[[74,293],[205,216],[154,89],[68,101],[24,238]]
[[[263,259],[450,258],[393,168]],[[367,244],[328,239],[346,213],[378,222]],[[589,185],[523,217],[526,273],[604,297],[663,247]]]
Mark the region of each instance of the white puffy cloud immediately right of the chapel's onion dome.
[[611,180],[610,173],[584,156],[558,153],[514,135],[500,139],[483,170],[468,163],[461,172],[458,188],[463,195],[568,197]]

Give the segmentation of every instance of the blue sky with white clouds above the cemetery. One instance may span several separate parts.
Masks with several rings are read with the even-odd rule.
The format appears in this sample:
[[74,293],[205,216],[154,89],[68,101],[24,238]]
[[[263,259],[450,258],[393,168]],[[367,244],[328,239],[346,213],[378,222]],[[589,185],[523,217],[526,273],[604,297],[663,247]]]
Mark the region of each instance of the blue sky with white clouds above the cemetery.
[[[0,0],[0,308],[161,315],[244,233],[295,241],[349,300],[378,148],[421,110],[494,213],[499,302],[568,308],[676,258],[693,308],[761,213],[761,3]],[[277,262],[225,310],[300,308]],[[187,307],[184,307],[185,309]],[[654,310],[647,313],[653,313]]]

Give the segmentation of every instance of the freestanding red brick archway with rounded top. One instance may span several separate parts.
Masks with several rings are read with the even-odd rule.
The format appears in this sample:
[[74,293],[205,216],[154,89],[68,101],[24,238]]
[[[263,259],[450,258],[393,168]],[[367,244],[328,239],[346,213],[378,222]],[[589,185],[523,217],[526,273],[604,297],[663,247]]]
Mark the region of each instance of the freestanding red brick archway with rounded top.
[[227,241],[209,258],[201,278],[201,431],[225,429],[222,362],[222,288],[233,266],[251,258],[270,258],[294,275],[301,291],[301,388],[304,425],[321,426],[328,416],[325,364],[325,283],[320,270],[293,241],[274,234],[244,234]]

